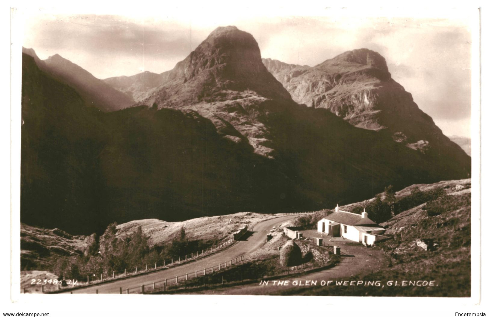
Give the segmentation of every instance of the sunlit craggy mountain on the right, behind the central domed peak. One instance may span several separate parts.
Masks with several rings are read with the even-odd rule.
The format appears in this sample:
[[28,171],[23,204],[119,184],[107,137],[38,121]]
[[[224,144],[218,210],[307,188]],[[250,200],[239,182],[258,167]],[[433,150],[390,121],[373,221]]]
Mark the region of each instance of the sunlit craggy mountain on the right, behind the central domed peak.
[[[297,103],[328,109],[356,127],[381,131],[413,149],[448,147],[462,157],[411,93],[391,78],[385,59],[375,51],[354,49],[314,67],[264,63]],[[279,63],[280,68],[274,67]]]

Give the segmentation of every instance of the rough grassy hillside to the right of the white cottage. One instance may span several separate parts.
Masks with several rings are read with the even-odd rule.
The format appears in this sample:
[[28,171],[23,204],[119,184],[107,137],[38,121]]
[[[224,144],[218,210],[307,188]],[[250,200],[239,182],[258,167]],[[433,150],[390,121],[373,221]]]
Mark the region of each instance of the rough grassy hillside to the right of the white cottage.
[[[459,186],[457,186],[459,185]],[[390,257],[378,272],[345,277],[349,281],[380,281],[384,287],[330,286],[282,294],[345,296],[470,296],[470,182],[445,182],[445,194],[402,211],[389,221],[378,242]],[[424,248],[423,248],[424,247]],[[434,286],[388,286],[388,281],[435,281]]]

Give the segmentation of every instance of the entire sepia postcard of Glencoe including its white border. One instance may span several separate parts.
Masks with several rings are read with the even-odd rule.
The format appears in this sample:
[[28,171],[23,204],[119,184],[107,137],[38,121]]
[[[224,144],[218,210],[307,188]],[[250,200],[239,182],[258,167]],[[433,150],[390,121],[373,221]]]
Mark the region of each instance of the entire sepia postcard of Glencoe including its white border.
[[13,293],[478,300],[476,8],[92,12],[12,10]]

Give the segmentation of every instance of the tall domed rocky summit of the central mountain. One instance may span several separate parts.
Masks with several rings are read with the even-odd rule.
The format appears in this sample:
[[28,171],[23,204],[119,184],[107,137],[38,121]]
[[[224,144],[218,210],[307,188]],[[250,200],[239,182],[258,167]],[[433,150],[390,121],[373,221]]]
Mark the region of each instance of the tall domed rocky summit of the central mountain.
[[263,65],[253,36],[236,26],[220,26],[178,62],[165,87],[146,102],[188,105],[222,99],[229,91],[255,91],[270,99],[291,101],[289,92]]

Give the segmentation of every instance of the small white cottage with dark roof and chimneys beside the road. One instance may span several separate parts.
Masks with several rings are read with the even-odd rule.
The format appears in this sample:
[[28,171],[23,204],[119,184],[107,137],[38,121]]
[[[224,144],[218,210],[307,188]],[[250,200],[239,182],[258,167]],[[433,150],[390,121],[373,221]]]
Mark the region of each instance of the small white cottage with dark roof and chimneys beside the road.
[[385,229],[370,220],[365,209],[359,215],[339,210],[336,205],[332,214],[318,221],[317,232],[326,233],[332,237],[344,237],[371,246],[377,239],[377,235],[384,233]]

